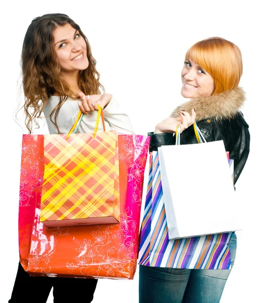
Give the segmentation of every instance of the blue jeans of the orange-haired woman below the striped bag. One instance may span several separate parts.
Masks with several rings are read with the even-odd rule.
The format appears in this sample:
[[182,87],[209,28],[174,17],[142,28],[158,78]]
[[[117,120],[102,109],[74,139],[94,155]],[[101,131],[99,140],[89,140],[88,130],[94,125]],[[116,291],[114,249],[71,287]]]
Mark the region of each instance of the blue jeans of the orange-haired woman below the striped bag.
[[[228,244],[231,268],[237,238]],[[139,303],[219,303],[231,269],[174,269],[140,265]]]

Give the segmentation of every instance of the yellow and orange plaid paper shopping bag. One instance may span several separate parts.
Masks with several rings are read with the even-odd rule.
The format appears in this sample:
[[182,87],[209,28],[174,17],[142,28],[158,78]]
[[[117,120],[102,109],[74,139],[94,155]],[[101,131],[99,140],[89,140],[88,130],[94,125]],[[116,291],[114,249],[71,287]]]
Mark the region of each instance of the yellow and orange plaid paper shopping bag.
[[40,221],[47,226],[120,221],[116,131],[44,136]]

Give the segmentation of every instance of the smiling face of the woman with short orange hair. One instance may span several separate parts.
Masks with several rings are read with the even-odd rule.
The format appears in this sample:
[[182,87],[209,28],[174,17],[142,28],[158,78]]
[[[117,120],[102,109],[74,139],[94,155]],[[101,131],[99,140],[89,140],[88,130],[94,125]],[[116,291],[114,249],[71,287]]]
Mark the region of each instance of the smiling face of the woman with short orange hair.
[[211,96],[215,90],[215,84],[208,72],[188,59],[182,70],[181,94],[185,98],[197,98]]

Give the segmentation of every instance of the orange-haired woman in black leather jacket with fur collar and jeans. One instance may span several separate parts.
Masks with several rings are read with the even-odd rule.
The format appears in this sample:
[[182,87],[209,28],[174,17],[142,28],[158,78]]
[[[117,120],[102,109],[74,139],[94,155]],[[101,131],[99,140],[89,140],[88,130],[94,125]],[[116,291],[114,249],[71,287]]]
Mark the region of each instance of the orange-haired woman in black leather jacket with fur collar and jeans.
[[[241,75],[241,52],[232,42],[213,37],[194,44],[186,53],[181,75],[181,94],[190,100],[150,133],[151,150],[175,144],[171,133],[179,123],[181,144],[197,143],[194,129],[189,127],[196,121],[206,141],[224,141],[234,160],[235,184],[246,163],[250,143],[248,125],[240,112],[245,100],[244,91],[238,86]],[[232,268],[235,233],[228,246]],[[140,303],[220,302],[230,271],[140,265]]]

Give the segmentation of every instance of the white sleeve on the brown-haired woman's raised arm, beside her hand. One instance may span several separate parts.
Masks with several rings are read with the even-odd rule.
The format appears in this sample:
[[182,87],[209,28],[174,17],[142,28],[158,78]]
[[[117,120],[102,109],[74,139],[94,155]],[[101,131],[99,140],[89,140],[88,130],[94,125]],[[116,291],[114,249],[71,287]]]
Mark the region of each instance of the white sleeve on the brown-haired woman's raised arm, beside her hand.
[[103,110],[103,116],[111,129],[116,130],[118,134],[135,134],[130,117],[114,97]]

